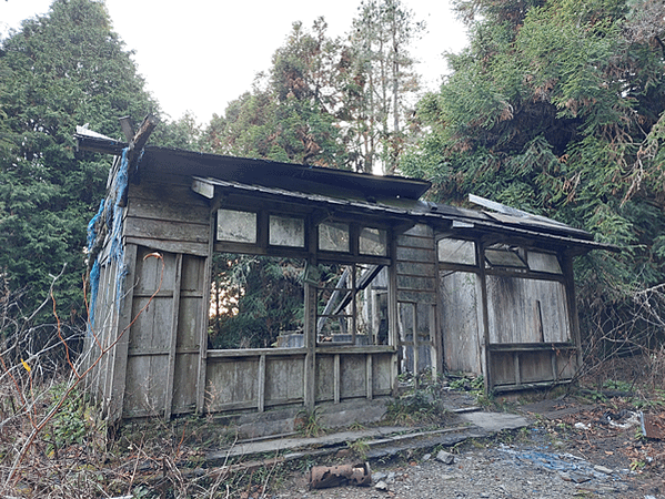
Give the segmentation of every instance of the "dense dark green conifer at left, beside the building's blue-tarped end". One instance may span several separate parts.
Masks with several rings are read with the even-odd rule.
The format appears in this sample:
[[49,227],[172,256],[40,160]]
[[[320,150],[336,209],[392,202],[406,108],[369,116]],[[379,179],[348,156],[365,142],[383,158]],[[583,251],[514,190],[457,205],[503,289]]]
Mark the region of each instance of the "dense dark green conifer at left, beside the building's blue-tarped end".
[[139,122],[158,105],[131,52],[112,31],[102,2],[56,0],[23,21],[0,49],[0,273],[22,306],[48,296],[63,277],[61,314],[85,317],[81,283],[88,221],[102,198],[107,157],[77,152],[75,125],[122,139],[118,118]]

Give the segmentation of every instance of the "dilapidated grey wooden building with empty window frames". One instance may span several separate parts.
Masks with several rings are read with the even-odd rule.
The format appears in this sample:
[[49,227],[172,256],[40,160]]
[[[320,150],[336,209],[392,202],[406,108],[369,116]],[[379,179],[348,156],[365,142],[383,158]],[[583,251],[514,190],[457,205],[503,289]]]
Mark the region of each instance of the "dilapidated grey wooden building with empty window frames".
[[[586,232],[421,201],[422,180],[77,139],[115,156],[89,227],[85,344],[112,420],[385,399],[427,369],[507,391],[582,363],[573,258],[604,247]],[[211,339],[221,308],[243,313],[219,277],[242,256],[273,258],[299,302],[259,344]]]

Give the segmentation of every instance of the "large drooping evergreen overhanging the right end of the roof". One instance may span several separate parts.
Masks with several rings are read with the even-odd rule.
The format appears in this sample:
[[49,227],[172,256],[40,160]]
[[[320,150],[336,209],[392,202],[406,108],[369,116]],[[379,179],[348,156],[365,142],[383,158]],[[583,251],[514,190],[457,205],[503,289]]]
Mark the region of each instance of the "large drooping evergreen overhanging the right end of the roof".
[[456,6],[471,45],[420,102],[431,132],[403,170],[431,179],[440,200],[480,194],[622,246],[580,266],[583,312],[663,282],[663,2]]

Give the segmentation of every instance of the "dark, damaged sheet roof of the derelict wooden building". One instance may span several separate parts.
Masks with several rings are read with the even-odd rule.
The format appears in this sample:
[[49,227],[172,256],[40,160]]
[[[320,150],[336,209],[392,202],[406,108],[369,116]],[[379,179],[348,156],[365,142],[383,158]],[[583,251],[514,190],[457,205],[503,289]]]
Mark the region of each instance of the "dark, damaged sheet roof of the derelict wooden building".
[[[127,143],[85,129],[74,138],[82,150],[121,154]],[[465,210],[420,201],[431,183],[401,176],[379,176],[344,170],[281,163],[268,160],[198,153],[171,147],[145,146],[138,175],[184,175],[219,189],[278,196],[298,202],[322,204],[329,208],[386,217],[407,217],[445,226],[453,236],[477,237],[481,232],[552,242],[574,247],[575,252],[617,248],[596,243],[593,236],[543,216],[481,200],[502,213]],[[473,201],[473,200],[472,200]]]

